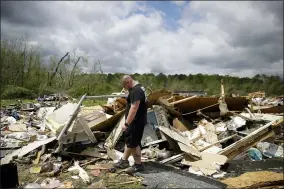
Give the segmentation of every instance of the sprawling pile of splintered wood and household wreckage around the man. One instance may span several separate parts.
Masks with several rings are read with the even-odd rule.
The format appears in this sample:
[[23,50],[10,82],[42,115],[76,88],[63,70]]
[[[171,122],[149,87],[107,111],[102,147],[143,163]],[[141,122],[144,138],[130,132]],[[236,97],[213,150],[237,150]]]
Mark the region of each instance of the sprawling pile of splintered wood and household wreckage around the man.
[[[45,97],[38,104],[6,107],[1,112],[1,166],[25,164],[30,174],[45,178],[26,187],[74,187],[70,180],[57,178],[63,173],[71,174],[73,182],[92,186],[102,173],[118,171],[112,164],[123,155],[126,97],[124,91],[84,95],[78,103],[52,97],[57,100],[53,106],[43,103],[50,100]],[[82,106],[83,100],[96,98],[108,98],[106,105]],[[225,97],[223,83],[219,98],[152,91],[147,97],[142,161],[218,179],[226,176],[223,167],[230,161],[283,158],[283,148],[275,142],[283,138],[283,111],[252,108],[280,107],[283,98],[282,105],[258,98]],[[134,164],[133,157],[129,161]]]

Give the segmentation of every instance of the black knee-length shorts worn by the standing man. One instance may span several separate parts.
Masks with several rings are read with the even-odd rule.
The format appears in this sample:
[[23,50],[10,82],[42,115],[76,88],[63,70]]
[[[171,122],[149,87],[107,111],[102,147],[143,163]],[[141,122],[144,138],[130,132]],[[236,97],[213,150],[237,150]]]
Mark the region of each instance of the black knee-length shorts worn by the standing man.
[[131,123],[125,131],[125,144],[128,148],[136,148],[141,146],[144,127],[146,124],[135,121]]

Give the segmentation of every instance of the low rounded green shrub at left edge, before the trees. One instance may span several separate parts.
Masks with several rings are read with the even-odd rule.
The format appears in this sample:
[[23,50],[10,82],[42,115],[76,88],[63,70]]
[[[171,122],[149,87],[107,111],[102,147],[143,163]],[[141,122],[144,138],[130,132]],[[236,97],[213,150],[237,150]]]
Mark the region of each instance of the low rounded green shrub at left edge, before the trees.
[[3,99],[15,99],[15,98],[36,98],[36,95],[29,89],[16,86],[6,86],[2,93]]

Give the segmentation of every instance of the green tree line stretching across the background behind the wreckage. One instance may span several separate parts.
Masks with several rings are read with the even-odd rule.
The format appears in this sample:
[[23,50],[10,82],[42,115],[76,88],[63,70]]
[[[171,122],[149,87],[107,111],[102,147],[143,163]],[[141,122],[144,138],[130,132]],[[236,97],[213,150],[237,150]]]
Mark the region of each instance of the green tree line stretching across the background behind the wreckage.
[[[90,62],[86,55],[66,52],[62,57],[50,57],[43,61],[40,46],[28,43],[26,37],[1,41],[1,98],[35,98],[39,95],[63,92],[73,97],[87,93],[102,95],[122,90],[123,73],[103,73],[103,63]],[[84,73],[82,65],[94,65],[90,73]],[[208,95],[220,94],[220,80],[224,80],[225,93],[247,95],[265,91],[267,95],[283,95],[283,80],[279,76],[255,75],[252,78],[229,75],[175,74],[132,75],[152,90],[202,90]]]

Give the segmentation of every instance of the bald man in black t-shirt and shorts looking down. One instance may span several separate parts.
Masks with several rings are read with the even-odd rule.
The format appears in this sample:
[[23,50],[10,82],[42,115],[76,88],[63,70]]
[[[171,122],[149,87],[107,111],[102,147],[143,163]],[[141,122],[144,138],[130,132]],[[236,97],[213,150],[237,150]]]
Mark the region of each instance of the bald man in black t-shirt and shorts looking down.
[[127,172],[143,171],[141,163],[141,140],[144,127],[147,124],[147,100],[145,88],[134,81],[129,75],[122,78],[122,85],[128,90],[127,106],[125,112],[125,124],[122,129],[125,132],[125,149],[122,159],[114,164],[114,167],[125,169],[129,167],[128,158],[133,156],[135,164]]

